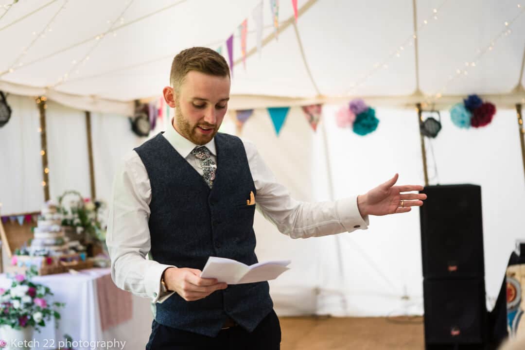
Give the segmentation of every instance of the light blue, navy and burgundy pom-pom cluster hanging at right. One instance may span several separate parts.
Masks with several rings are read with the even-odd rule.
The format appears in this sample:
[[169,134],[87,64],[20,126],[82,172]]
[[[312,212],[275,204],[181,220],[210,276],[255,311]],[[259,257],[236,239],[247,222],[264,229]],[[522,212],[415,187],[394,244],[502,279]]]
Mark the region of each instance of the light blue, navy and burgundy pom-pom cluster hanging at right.
[[450,119],[454,125],[464,129],[486,126],[492,122],[495,114],[496,106],[483,102],[476,94],[469,95],[463,103],[457,103],[450,109]]

